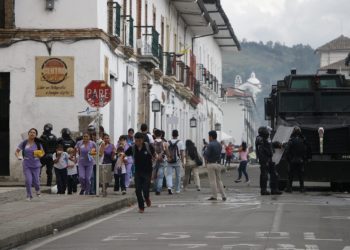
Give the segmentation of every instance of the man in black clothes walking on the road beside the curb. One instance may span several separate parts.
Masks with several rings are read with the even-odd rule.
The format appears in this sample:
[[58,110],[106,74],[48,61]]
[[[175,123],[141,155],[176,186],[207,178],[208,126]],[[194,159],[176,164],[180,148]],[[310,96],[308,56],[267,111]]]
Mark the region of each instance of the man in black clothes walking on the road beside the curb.
[[125,154],[134,158],[135,165],[135,189],[139,212],[145,211],[145,202],[147,207],[151,206],[149,189],[153,170],[153,159],[155,151],[152,145],[144,142],[144,134],[138,132],[135,134],[135,145],[129,147]]

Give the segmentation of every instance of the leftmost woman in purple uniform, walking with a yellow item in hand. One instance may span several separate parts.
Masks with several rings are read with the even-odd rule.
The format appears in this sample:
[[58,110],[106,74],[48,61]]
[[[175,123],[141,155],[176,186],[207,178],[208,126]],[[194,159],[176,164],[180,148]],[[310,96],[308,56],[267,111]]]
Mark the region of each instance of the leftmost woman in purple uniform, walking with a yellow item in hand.
[[[37,197],[40,197],[40,158],[43,157],[45,153],[37,136],[38,131],[35,128],[31,128],[28,132],[28,139],[21,142],[15,152],[17,159],[23,160],[22,165],[28,201],[33,199],[33,184]],[[22,154],[20,153],[21,151]]]

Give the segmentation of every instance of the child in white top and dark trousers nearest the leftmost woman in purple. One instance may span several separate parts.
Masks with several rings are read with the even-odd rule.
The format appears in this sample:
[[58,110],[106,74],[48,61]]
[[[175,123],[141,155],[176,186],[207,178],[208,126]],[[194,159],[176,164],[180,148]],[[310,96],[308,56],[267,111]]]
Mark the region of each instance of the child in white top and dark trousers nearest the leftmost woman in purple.
[[58,144],[56,153],[52,156],[56,174],[57,194],[65,194],[67,187],[67,166],[69,155],[63,151],[63,145]]

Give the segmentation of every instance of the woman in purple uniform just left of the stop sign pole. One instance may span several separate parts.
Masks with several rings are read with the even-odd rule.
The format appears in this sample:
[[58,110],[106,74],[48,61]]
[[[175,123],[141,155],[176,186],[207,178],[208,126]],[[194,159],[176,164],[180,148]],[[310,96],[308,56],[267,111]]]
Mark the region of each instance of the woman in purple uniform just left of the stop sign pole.
[[92,169],[95,165],[94,155],[96,154],[96,143],[90,140],[88,133],[84,133],[83,140],[75,146],[78,158],[79,182],[81,185],[80,195],[89,195],[90,179]]

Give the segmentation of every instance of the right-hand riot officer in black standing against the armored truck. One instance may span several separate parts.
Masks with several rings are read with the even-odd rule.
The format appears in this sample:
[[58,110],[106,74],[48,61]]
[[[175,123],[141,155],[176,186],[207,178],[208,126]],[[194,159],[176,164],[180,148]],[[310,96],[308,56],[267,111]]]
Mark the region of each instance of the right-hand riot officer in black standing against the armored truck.
[[291,193],[293,177],[299,178],[300,192],[304,192],[304,163],[308,158],[308,144],[299,127],[295,127],[290,140],[285,146],[286,156],[289,163],[288,185],[286,192]]

